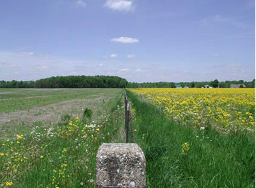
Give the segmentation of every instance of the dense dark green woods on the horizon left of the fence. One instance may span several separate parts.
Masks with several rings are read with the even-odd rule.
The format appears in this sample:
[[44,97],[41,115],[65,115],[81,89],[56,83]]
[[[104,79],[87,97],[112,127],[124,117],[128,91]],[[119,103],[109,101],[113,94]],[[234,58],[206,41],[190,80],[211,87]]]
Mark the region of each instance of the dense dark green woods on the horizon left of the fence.
[[0,88],[125,88],[127,80],[117,76],[57,76],[37,81],[0,81]]

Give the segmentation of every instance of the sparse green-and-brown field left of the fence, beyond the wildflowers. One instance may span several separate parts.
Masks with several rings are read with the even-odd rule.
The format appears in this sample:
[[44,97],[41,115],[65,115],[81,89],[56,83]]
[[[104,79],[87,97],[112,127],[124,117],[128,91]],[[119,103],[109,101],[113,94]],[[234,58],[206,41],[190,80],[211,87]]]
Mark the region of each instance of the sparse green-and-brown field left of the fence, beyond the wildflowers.
[[[102,103],[108,102],[120,91],[120,89],[1,89],[0,97],[4,95],[5,99],[0,100],[2,133],[0,138],[12,137],[17,132],[26,134],[27,129],[31,129],[29,127],[33,127],[34,124],[57,123],[65,114],[72,118],[81,117],[86,108],[94,111],[93,120],[99,120],[106,112]],[[13,95],[16,97],[9,98]],[[29,98],[24,99],[24,95]],[[40,98],[42,95],[49,97]]]

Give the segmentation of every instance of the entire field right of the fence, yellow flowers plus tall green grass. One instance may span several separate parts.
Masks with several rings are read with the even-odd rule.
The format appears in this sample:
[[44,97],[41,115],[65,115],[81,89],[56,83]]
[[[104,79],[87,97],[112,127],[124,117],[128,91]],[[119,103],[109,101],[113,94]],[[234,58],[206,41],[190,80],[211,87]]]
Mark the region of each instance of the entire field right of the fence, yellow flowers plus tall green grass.
[[255,187],[255,89],[127,90],[148,187]]

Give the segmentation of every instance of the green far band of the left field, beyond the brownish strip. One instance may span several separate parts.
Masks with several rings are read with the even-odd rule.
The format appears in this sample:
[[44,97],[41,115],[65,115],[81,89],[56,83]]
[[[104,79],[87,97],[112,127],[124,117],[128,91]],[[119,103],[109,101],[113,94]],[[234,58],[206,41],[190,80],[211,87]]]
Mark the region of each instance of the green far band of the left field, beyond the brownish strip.
[[[120,89],[0,89],[0,113],[28,110],[79,98],[97,98]],[[3,94],[8,93],[8,94]]]

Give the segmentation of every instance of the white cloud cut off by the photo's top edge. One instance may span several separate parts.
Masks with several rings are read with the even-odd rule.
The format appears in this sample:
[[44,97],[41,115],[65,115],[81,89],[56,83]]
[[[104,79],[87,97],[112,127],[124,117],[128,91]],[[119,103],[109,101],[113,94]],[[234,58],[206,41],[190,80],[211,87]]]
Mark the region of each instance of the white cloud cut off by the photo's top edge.
[[133,1],[127,0],[107,0],[104,4],[104,7],[121,12],[130,12],[134,10]]

